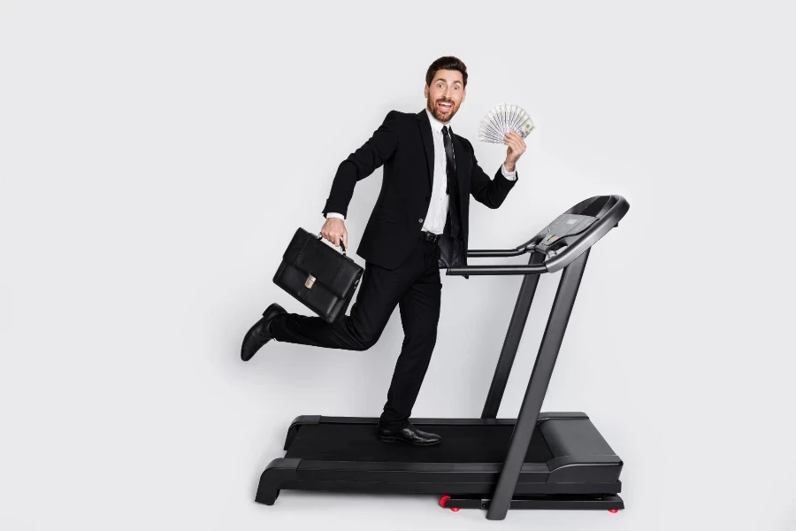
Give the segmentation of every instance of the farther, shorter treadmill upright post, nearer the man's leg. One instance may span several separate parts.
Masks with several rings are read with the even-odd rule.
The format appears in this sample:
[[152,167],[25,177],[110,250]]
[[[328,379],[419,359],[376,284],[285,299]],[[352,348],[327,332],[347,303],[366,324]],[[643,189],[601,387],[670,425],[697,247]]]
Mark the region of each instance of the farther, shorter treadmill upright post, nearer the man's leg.
[[[532,252],[529,265],[539,265],[545,261],[545,255],[540,252]],[[528,320],[528,313],[531,312],[533,296],[536,294],[536,286],[539,284],[538,274],[526,274],[523,284],[517,295],[517,303],[514,304],[514,313],[511,314],[509,330],[506,332],[506,339],[503,341],[501,357],[498,359],[497,366],[494,368],[492,385],[486,394],[484,411],[481,412],[481,419],[494,419],[497,417],[498,409],[501,407],[503,393],[506,384],[509,382],[511,366],[514,365],[514,358],[517,356],[517,348],[525,329],[525,321]]]

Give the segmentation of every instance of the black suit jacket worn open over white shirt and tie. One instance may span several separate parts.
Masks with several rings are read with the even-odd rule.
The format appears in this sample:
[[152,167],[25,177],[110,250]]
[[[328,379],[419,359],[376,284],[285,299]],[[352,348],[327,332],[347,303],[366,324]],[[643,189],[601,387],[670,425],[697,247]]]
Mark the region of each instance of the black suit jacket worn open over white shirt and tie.
[[[519,180],[519,173],[515,181],[503,177],[500,167],[490,179],[478,165],[472,144],[463,136],[453,135],[453,148],[456,183],[450,200],[458,201],[462,234],[453,238],[446,228],[439,241],[440,267],[467,265],[470,196],[489,208],[498,208]],[[347,216],[356,182],[384,165],[381,190],[356,254],[377,266],[394,269],[409,255],[422,230],[431,202],[433,164],[432,128],[425,109],[417,114],[390,111],[371,138],[337,168],[323,214],[340,212]]]

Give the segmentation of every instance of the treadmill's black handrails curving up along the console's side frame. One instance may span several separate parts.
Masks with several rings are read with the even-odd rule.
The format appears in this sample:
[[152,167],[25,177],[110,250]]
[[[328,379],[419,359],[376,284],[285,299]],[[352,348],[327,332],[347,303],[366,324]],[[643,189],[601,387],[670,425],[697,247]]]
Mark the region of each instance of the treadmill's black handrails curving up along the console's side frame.
[[[619,220],[622,219],[624,214],[626,214],[630,209],[630,204],[627,203],[627,200],[625,200],[623,196],[612,197],[616,199],[616,203],[611,205],[611,208],[605,213],[604,216],[602,216],[600,219],[597,219],[597,221],[595,221],[590,227],[586,228],[586,231],[584,231],[583,235],[580,235],[575,242],[572,242],[563,250],[558,251],[554,257],[548,258],[539,266],[455,266],[448,267],[446,274],[542,274],[560,271],[564,267],[569,266],[572,262],[577,260],[578,257],[586,252],[587,249],[590,249],[594,243],[598,242],[602,236],[607,235],[608,231],[616,227],[616,225],[619,223]],[[511,250],[473,250],[467,252],[467,257],[477,258],[518,256],[524,252],[534,250],[535,245],[531,245],[531,242],[526,242],[523,246],[518,247],[516,253],[512,252]]]

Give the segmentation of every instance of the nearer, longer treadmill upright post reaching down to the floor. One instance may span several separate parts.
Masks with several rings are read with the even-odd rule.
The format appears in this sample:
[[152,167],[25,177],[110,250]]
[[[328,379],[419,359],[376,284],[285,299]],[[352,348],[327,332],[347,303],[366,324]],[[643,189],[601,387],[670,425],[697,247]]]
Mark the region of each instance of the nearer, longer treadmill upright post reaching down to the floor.
[[486,512],[487,519],[504,519],[509,512],[511,498],[517,489],[517,479],[520,469],[528,451],[528,444],[531,443],[531,436],[539,420],[539,413],[542,402],[547,394],[547,386],[550,384],[550,377],[553,375],[555,360],[558,358],[558,351],[561,349],[564,332],[570,320],[572,307],[575,305],[575,297],[578,295],[578,287],[586,269],[586,260],[591,249],[586,250],[569,266],[563,270],[561,281],[558,284],[558,291],[555,293],[553,309],[547,319],[545,335],[542,336],[539,347],[539,354],[533,364],[531,380],[528,381],[528,388],[525,390],[523,404],[517,416],[517,424],[514,433],[511,435],[509,452],[501,469],[497,486],[494,489],[492,502]]

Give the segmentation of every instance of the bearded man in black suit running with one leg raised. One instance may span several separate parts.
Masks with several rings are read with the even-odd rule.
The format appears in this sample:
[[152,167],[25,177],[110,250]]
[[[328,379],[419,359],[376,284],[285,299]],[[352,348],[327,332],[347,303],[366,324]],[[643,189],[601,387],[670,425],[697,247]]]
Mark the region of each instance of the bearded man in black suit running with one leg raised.
[[356,250],[365,267],[350,315],[329,324],[271,304],[241,347],[243,360],[271,339],[367,350],[378,341],[397,305],[404,339],[376,434],[386,443],[440,443],[440,435],[409,422],[436,342],[440,267],[466,265],[470,196],[498,208],[517,184],[515,165],[525,150],[520,135],[506,135],[506,161],[494,179],[484,173],[471,143],[449,126],[464,102],[466,86],[462,61],[437,59],[425,76],[425,110],[387,113],[371,139],[338,167],[320,232],[334,245],[342,242],[348,247],[344,219],[356,182],[384,165],[381,191]]

